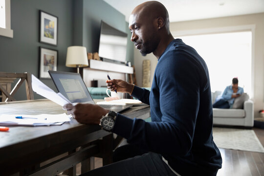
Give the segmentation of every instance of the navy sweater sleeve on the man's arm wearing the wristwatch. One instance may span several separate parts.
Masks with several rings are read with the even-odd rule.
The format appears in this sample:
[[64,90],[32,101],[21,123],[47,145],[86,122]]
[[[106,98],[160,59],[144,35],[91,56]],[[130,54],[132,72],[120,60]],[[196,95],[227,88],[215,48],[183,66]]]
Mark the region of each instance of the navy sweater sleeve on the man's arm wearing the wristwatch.
[[118,114],[113,132],[152,152],[185,155],[192,146],[198,115],[199,73],[186,55],[167,55],[155,78],[160,89],[155,98],[160,102],[161,121],[145,122]]

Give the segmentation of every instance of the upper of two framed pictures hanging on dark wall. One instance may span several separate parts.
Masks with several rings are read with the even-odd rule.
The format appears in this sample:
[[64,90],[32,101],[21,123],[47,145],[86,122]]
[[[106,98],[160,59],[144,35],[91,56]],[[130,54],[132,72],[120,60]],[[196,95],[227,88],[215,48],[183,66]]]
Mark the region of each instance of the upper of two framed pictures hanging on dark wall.
[[40,10],[40,42],[57,45],[58,17]]

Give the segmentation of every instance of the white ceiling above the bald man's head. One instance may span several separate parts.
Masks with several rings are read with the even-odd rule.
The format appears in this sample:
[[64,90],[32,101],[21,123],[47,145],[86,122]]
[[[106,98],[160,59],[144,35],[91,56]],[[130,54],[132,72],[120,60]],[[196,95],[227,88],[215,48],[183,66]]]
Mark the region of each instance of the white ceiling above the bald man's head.
[[[148,0],[104,0],[126,16]],[[158,0],[168,10],[170,22],[210,19],[264,12],[264,0]]]

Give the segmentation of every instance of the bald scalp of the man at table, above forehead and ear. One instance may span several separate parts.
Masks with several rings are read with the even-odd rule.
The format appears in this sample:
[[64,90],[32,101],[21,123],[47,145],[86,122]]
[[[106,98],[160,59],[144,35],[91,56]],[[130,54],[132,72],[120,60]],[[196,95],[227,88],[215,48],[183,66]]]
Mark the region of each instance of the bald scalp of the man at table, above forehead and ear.
[[[132,16],[143,18],[148,21],[153,21],[157,18],[162,18],[164,27],[167,32],[170,31],[169,14],[166,7],[158,1],[146,1],[134,8]],[[163,26],[162,26],[163,27]]]

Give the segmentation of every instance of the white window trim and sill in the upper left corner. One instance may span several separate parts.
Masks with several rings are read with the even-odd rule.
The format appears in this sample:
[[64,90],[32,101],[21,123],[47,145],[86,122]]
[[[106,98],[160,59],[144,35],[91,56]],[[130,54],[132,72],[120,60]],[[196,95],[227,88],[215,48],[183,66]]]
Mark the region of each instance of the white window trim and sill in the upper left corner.
[[13,38],[13,30],[11,29],[10,0],[5,0],[5,28],[0,27],[0,35]]

